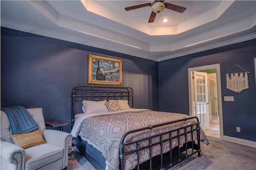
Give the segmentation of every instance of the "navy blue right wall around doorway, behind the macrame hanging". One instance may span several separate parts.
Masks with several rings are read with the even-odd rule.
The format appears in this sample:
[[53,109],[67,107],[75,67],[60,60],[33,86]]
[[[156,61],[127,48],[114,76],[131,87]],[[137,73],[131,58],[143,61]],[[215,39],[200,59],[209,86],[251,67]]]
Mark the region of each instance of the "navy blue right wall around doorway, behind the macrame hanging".
[[[189,115],[188,68],[220,64],[224,135],[256,141],[256,39],[159,62],[159,109]],[[249,71],[249,89],[226,89],[226,73],[238,64]],[[243,72],[235,67],[231,73]],[[234,96],[225,102],[224,96]],[[236,127],[241,132],[236,132]]]

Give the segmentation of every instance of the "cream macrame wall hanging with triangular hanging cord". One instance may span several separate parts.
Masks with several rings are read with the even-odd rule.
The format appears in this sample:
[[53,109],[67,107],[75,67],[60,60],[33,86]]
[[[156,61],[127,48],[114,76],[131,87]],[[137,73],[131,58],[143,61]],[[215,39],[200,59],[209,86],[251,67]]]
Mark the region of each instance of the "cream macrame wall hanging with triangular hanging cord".
[[[238,64],[235,64],[231,70],[235,67],[239,66]],[[240,66],[239,66],[240,67]],[[242,67],[240,67],[242,68]],[[227,89],[232,90],[236,93],[242,92],[242,90],[249,88],[249,82],[248,82],[248,71],[246,71],[244,68],[242,68],[245,72],[240,73],[231,73],[230,71],[226,74],[227,79]]]

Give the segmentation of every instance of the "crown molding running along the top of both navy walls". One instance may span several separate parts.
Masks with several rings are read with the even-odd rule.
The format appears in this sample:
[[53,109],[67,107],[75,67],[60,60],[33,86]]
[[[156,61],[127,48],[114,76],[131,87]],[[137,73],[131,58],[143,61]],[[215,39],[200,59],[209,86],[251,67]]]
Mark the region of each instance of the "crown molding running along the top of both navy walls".
[[[73,42],[73,43],[87,45],[87,46],[90,46],[90,47],[96,47],[96,48],[105,49],[105,50],[108,50],[108,51],[114,51],[114,52],[118,52],[118,53],[132,55],[132,56],[135,56],[135,57],[140,57],[140,58],[143,58],[143,59],[148,59],[148,60],[157,61],[157,62],[165,61],[165,60],[168,60],[168,59],[173,59],[173,58],[176,58],[176,57],[182,57],[182,56],[185,56],[185,55],[190,55],[190,54],[193,54],[193,53],[198,53],[198,52],[201,52],[201,51],[206,51],[206,50],[209,50],[209,49],[214,49],[214,48],[218,48],[218,47],[222,47],[222,46],[226,46],[226,45],[231,45],[231,44],[234,44],[234,43],[239,43],[239,42],[242,42],[242,41],[247,41],[247,40],[256,38],[256,33],[252,33],[252,34],[249,34],[249,35],[244,35],[244,36],[241,36],[241,37],[238,37],[238,38],[222,41],[222,42],[219,42],[219,43],[213,43],[213,44],[210,44],[210,45],[206,45],[204,47],[199,47],[199,48],[183,51],[183,52],[180,52],[180,53],[174,53],[172,55],[168,55],[168,56],[165,56],[165,57],[155,58],[155,57],[150,57],[148,55],[143,54],[143,53],[145,53],[145,51],[142,51],[142,52],[135,51],[134,48],[132,48],[132,47],[128,47],[128,49],[127,49],[127,46],[120,45],[118,43],[116,43],[116,45],[114,46],[114,45],[108,45],[109,43],[107,43],[107,40],[98,41],[98,42],[90,40],[93,37],[91,35],[84,35],[84,37],[88,37],[88,39],[85,39],[84,37],[80,38],[80,37],[70,36],[70,35],[67,35],[67,34],[62,34],[62,33],[57,33],[57,32],[54,32],[54,31],[44,30],[44,29],[40,29],[38,27],[22,25],[20,23],[14,23],[14,22],[7,21],[7,20],[1,20],[1,27],[7,27],[7,28],[10,28],[10,29],[18,30],[18,31],[24,31],[24,32],[33,33],[33,34],[36,34],[36,35],[42,35],[42,36],[45,36],[45,37],[60,39],[60,40],[64,40],[64,41],[69,41],[69,42]],[[122,48],[122,46],[125,46],[126,49]]]

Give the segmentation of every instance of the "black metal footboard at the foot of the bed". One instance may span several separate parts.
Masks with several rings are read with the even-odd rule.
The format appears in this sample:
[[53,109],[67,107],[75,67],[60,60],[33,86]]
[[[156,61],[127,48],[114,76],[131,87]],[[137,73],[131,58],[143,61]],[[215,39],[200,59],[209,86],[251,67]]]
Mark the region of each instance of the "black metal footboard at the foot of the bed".
[[[140,140],[137,140],[137,141],[132,141],[132,142],[128,142],[128,143],[124,143],[124,139],[127,137],[127,135],[130,135],[132,133],[136,133],[136,132],[139,132],[139,131],[145,131],[147,129],[154,129],[156,127],[160,127],[160,126],[164,126],[164,125],[169,125],[169,124],[173,124],[173,123],[177,123],[177,122],[180,122],[180,121],[187,121],[189,119],[196,119],[196,122],[193,123],[193,124],[190,124],[190,125],[187,125],[187,126],[184,126],[182,128],[179,128],[179,129],[174,129],[174,130],[171,130],[171,131],[166,131],[165,133],[161,133],[161,134],[158,134],[158,135],[154,135],[154,136],[151,136],[151,137],[147,137],[147,138],[144,138],[144,139],[140,139]],[[180,162],[182,162],[183,160],[187,159],[188,157],[198,153],[198,156],[200,157],[201,154],[201,150],[200,150],[200,126],[199,126],[199,120],[198,120],[198,117],[190,117],[190,118],[184,118],[184,119],[179,119],[179,120],[176,120],[176,121],[169,121],[169,122],[166,122],[166,123],[160,123],[160,124],[156,124],[156,125],[149,125],[148,127],[143,127],[143,128],[139,128],[139,129],[134,129],[134,130],[130,130],[128,132],[126,132],[122,139],[121,139],[121,142],[120,142],[120,145],[119,145],[119,149],[120,149],[120,169],[123,170],[124,169],[124,157],[126,155],[129,155],[129,154],[132,154],[134,152],[136,152],[137,154],[137,169],[139,170],[140,169],[140,164],[139,164],[139,160],[140,160],[140,151],[141,150],[145,150],[145,149],[148,149],[149,152],[150,152],[150,165],[149,165],[149,169],[151,170],[152,169],[152,147],[156,146],[156,145],[160,145],[160,169],[161,170],[165,170],[165,169],[168,169]],[[196,128],[195,128],[196,127]],[[174,135],[177,134],[177,135]],[[197,133],[196,136],[197,136],[197,145],[194,143],[194,141],[196,141],[195,139],[193,139],[193,133]],[[169,137],[168,139],[163,139],[163,135],[166,135],[166,134],[169,134]],[[188,143],[190,141],[187,141],[187,135],[188,134],[191,134],[191,141],[192,141],[192,145],[190,147],[188,147]],[[185,143],[180,146],[180,137],[184,136],[185,137]],[[159,138],[158,142],[156,143],[152,143],[152,139],[153,138]],[[174,139],[178,139],[178,159],[174,160],[173,156],[172,155],[172,150],[170,150],[170,153],[168,153],[168,156],[170,156],[170,164],[168,167],[163,167],[163,143],[166,143],[166,142],[169,142],[170,144],[170,149],[172,148],[172,141]],[[143,141],[148,141],[148,146],[146,147],[142,147],[140,148],[140,143],[143,142]],[[191,142],[190,142],[191,143]],[[124,147],[125,146],[129,146],[129,145],[136,145],[136,149],[134,150],[131,150],[129,152],[124,152]],[[180,149],[184,149],[184,151],[181,151]],[[188,150],[190,149],[190,152],[188,152]],[[184,153],[184,156],[182,157],[181,156],[181,152]]]

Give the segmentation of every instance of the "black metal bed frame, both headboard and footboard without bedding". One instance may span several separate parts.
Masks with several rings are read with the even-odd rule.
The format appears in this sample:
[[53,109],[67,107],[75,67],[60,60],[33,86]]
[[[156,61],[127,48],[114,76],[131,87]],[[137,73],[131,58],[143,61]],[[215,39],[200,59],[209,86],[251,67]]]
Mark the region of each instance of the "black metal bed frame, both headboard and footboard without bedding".
[[[72,127],[74,125],[74,117],[75,117],[75,102],[77,98],[80,98],[80,102],[82,103],[82,100],[93,100],[93,101],[101,101],[101,100],[128,100],[129,105],[131,107],[133,107],[133,91],[132,88],[130,87],[120,87],[120,86],[75,86],[72,90]],[[80,107],[81,108],[81,107]],[[78,112],[81,113],[81,112]],[[124,143],[124,139],[127,137],[127,135],[130,135],[132,133],[136,133],[139,131],[145,131],[147,129],[154,129],[157,127],[161,127],[164,125],[169,125],[169,124],[173,124],[173,123],[177,123],[180,121],[187,121],[190,119],[196,119],[196,123],[187,125],[185,127],[179,128],[179,129],[175,129],[172,131],[166,131],[165,133],[161,133],[158,135],[154,135],[152,137],[147,137],[145,139],[141,139],[138,141],[132,141],[132,142],[128,142],[128,143]],[[160,145],[161,148],[161,154],[160,154],[160,158],[157,158],[158,161],[160,162],[160,169],[164,170],[170,167],[173,167],[174,165],[182,162],[183,160],[189,158],[190,156],[198,153],[198,157],[201,156],[200,152],[200,127],[199,127],[199,120],[198,117],[190,117],[190,118],[184,118],[184,119],[179,119],[176,121],[169,121],[166,123],[160,123],[160,124],[155,124],[155,125],[149,125],[148,127],[143,127],[143,128],[139,128],[139,129],[134,129],[131,131],[127,131],[120,142],[119,145],[119,149],[120,149],[120,169],[123,170],[124,169],[124,157],[128,154],[132,154],[134,152],[136,152],[137,154],[137,166],[136,168],[139,170],[140,169],[140,164],[139,164],[139,156],[140,156],[140,151],[144,150],[144,149],[149,149],[150,151],[150,160],[149,160],[149,167],[147,167],[147,169],[152,169],[152,147],[156,146],[156,145]],[[196,128],[194,128],[196,127]],[[184,129],[184,130],[183,130]],[[195,143],[194,139],[193,139],[193,133],[197,133],[197,144]],[[163,140],[163,135],[169,134],[169,138],[168,139],[164,139]],[[177,135],[173,135],[173,134],[177,134]],[[192,141],[187,141],[187,135],[191,134],[192,137]],[[184,136],[185,137],[185,143],[180,146],[180,137]],[[159,138],[159,141],[156,143],[152,143],[152,139],[153,138]],[[172,140],[174,139],[178,139],[178,146],[175,147],[174,149],[170,150],[168,153],[163,154],[163,148],[162,145],[163,143],[169,142],[170,144],[170,148],[172,146]],[[140,148],[140,143],[143,141],[148,141],[148,146]],[[131,150],[130,152],[124,152],[124,147],[128,146],[128,145],[136,145],[136,149]],[[174,150],[176,150],[176,152],[173,152]],[[166,158],[169,158],[170,164],[167,168],[163,168],[163,155],[167,156]],[[174,155],[178,156],[178,158],[174,158]],[[158,156],[159,157],[159,156]],[[147,161],[148,162],[148,161]],[[143,163],[145,164],[145,162]],[[148,163],[146,163],[148,164]],[[148,166],[148,165],[146,165]]]

